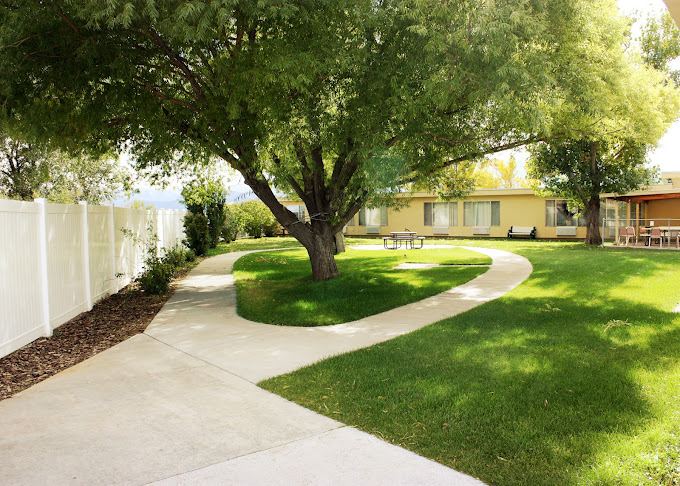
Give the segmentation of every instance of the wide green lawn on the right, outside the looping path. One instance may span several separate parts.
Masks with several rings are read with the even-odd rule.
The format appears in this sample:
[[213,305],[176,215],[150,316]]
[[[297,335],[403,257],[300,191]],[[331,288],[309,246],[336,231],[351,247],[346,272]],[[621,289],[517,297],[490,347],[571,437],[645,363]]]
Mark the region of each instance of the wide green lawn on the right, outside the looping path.
[[261,385],[491,484],[680,484],[680,253],[469,244],[534,272],[465,314]]

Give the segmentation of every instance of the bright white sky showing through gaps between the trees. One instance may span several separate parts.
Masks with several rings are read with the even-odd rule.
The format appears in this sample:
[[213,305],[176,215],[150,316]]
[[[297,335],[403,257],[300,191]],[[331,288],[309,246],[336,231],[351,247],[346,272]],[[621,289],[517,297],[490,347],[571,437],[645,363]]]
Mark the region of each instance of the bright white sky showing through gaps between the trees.
[[[663,0],[617,0],[617,4],[624,13],[631,15],[638,12],[643,17],[666,9]],[[524,163],[528,154],[526,150],[519,149],[499,155],[504,159],[514,155],[519,163]],[[671,125],[649,158],[650,164],[658,166],[661,172],[680,172],[680,120]],[[520,169],[520,172],[523,172],[523,168]],[[243,184],[240,178],[232,176],[231,181],[228,196],[230,202],[252,199],[250,188]],[[179,203],[180,188],[178,187],[170,186],[165,190],[160,190],[148,184],[139,184],[138,186],[140,194],[132,196],[131,199],[143,200],[157,208],[179,209],[183,207]],[[125,205],[128,202],[122,200],[117,201],[116,204]]]

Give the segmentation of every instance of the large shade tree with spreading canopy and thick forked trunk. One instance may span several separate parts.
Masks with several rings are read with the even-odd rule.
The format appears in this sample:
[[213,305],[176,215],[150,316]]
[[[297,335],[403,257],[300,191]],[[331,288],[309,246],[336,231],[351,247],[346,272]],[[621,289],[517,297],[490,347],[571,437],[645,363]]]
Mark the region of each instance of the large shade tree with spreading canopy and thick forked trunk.
[[5,0],[0,106],[140,168],[224,159],[328,279],[361,206],[547,132],[560,56],[600,3]]

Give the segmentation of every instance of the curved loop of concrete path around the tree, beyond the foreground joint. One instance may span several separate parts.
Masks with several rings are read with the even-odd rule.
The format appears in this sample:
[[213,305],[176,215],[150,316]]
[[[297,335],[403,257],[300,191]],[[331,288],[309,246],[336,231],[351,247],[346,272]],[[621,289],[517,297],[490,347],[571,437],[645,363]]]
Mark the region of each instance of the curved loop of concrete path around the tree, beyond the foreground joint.
[[[514,253],[461,248],[491,257],[489,270],[424,300],[353,322],[322,327],[276,326],[238,316],[232,268],[236,260],[250,252],[226,253],[206,260],[182,282],[146,334],[257,383],[468,311],[512,290],[532,272],[531,263]],[[355,249],[382,247],[366,245]],[[195,307],[201,309],[198,314]],[[208,316],[203,309],[214,311],[211,322],[206,321]],[[202,338],[203,333],[206,339]]]

